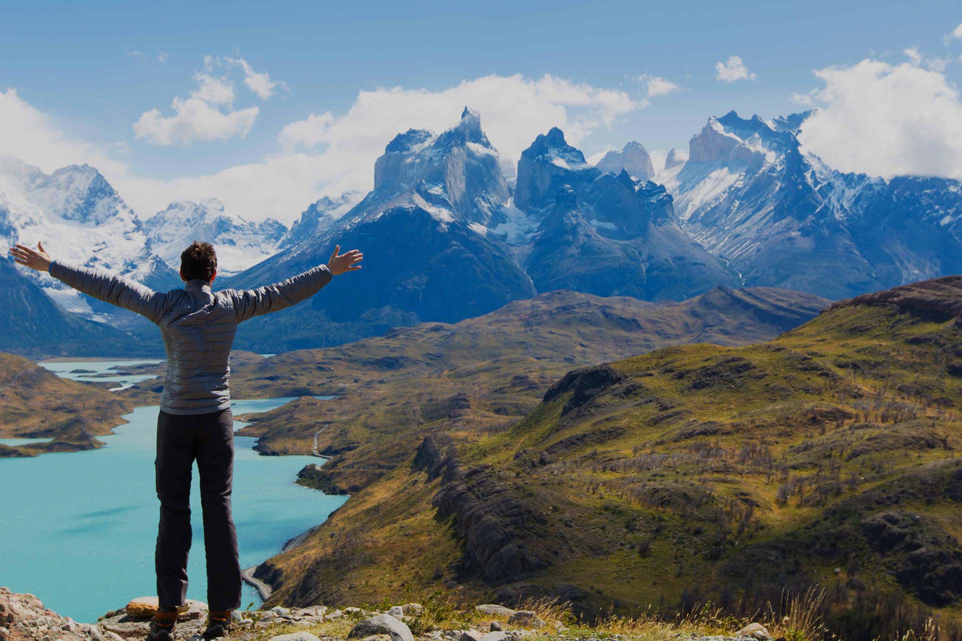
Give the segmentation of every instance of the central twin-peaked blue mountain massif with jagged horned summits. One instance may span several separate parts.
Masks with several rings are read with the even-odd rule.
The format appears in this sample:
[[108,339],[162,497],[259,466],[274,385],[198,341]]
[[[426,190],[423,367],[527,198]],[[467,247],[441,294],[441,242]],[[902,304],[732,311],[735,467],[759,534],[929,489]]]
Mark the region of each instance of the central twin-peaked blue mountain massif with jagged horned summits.
[[460,320],[563,287],[657,299],[737,284],[681,231],[663,187],[588,164],[559,129],[521,154],[517,176],[512,197],[479,115],[466,108],[441,135],[395,136],[357,206],[224,286],[289,278],[336,243],[371,260],[351,286],[312,299],[335,320],[385,306]]

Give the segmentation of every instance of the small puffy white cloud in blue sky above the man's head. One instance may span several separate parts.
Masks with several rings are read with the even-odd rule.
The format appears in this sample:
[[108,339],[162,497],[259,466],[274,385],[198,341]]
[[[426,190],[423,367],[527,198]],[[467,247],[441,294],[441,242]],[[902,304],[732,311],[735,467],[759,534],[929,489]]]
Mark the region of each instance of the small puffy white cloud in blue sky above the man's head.
[[190,91],[189,98],[173,99],[173,115],[165,116],[157,109],[141,113],[134,123],[135,136],[160,146],[246,136],[254,126],[258,108],[234,110],[234,84],[227,78],[197,73],[194,80],[197,87]]

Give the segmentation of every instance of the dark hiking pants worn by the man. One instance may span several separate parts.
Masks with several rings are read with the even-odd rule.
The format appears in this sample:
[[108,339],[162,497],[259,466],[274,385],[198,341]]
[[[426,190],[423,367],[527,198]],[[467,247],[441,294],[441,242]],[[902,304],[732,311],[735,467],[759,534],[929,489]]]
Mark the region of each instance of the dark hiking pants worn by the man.
[[211,610],[241,606],[238,536],[231,516],[234,481],[234,420],[230,409],[178,415],[161,410],[157,419],[157,597],[161,607],[185,604],[190,552],[190,472],[200,472],[207,556],[207,603]]

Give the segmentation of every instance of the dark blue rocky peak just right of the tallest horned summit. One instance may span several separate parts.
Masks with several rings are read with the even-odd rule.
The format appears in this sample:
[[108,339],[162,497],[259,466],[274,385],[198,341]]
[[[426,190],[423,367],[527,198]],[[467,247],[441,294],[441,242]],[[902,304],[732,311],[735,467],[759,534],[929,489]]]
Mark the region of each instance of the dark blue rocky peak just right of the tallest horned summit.
[[539,291],[658,300],[738,284],[682,231],[663,186],[587,164],[557,128],[521,154],[515,200],[540,221],[524,262]]

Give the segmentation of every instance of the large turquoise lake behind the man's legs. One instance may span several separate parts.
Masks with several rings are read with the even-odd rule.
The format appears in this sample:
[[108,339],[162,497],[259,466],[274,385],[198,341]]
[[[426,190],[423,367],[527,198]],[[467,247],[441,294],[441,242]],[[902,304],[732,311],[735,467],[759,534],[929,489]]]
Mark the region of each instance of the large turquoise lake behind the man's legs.
[[[94,364],[83,363],[87,369]],[[235,415],[267,411],[291,400],[235,400],[232,409]],[[81,622],[94,622],[135,597],[157,594],[157,413],[157,406],[136,407],[114,435],[98,436],[107,444],[98,450],[0,458],[0,585],[36,594],[46,607]],[[243,425],[237,421],[235,429]],[[255,441],[235,437],[234,520],[244,568],[277,554],[346,500],[293,482],[306,464],[323,459],[259,456],[252,449]],[[206,602],[196,470],[194,465],[188,598]],[[260,599],[245,584],[243,606],[249,603],[260,604]]]

